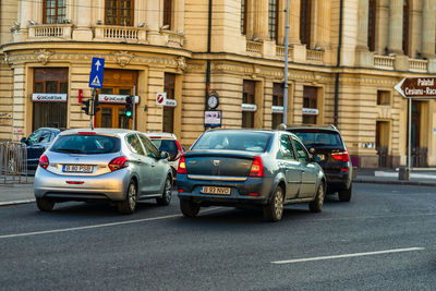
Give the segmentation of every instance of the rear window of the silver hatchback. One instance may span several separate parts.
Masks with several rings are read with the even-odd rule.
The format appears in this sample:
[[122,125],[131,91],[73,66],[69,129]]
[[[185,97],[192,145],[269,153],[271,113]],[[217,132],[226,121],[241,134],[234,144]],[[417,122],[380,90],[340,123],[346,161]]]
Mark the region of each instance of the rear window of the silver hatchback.
[[51,146],[50,150],[70,154],[110,154],[121,149],[121,141],[114,136],[106,135],[61,135]]

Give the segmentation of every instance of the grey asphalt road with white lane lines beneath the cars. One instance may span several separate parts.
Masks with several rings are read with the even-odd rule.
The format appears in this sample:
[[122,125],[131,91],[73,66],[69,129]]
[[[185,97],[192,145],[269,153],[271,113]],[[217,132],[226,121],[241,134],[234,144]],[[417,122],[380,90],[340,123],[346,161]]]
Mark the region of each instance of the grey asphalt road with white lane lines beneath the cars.
[[436,191],[354,184],[324,211],[35,204],[0,208],[1,290],[435,290]]

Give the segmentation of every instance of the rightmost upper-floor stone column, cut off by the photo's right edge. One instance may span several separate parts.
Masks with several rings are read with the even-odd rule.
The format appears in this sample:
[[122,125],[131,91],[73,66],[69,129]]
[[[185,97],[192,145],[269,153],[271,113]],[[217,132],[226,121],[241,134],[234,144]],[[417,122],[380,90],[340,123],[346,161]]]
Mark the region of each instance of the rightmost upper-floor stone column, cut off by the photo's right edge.
[[432,59],[435,58],[435,36],[436,36],[436,22],[435,22],[435,5],[432,0],[423,0],[423,26],[421,39],[422,56]]

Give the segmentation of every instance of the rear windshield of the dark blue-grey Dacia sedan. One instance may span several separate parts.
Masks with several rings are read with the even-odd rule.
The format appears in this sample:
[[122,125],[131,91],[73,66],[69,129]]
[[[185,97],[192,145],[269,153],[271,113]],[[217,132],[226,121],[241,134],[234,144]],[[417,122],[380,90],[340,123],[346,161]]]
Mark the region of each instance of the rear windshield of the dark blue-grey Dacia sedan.
[[271,135],[266,132],[206,132],[192,149],[232,149],[263,153],[268,147]]

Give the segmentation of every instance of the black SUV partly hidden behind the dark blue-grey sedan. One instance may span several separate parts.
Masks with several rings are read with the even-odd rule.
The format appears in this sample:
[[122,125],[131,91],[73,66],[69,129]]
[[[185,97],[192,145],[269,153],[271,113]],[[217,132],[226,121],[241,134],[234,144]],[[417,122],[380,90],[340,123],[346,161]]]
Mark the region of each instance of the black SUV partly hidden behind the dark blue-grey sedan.
[[328,126],[287,126],[307,149],[314,148],[316,161],[327,177],[327,193],[338,192],[339,199],[349,202],[352,192],[352,165],[346,144],[334,125]]

